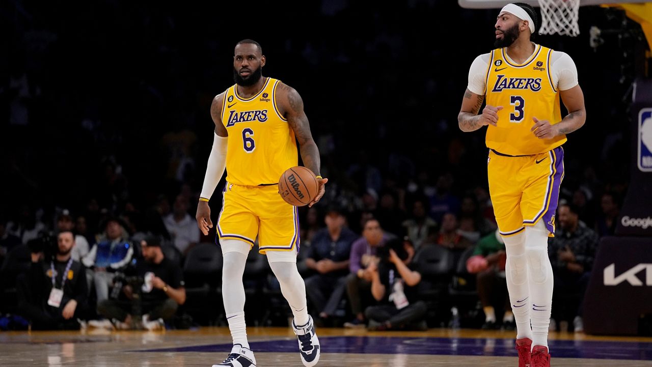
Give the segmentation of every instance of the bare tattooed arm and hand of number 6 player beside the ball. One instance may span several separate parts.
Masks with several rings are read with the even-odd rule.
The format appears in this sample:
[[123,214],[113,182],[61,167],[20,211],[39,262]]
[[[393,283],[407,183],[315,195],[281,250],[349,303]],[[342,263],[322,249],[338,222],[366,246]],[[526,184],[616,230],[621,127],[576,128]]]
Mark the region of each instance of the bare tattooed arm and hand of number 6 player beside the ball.
[[[288,119],[289,126],[294,130],[295,136],[297,136],[299,151],[301,152],[301,159],[303,160],[304,166],[319,176],[321,165],[319,149],[312,139],[310,123],[308,123],[308,117],[306,117],[306,113],[303,111],[303,99],[301,99],[301,96],[294,88],[284,83],[279,83],[276,98],[281,112]],[[324,184],[327,181],[328,179],[319,180],[319,192],[316,198],[309,204],[310,206],[321,199],[325,192]]]

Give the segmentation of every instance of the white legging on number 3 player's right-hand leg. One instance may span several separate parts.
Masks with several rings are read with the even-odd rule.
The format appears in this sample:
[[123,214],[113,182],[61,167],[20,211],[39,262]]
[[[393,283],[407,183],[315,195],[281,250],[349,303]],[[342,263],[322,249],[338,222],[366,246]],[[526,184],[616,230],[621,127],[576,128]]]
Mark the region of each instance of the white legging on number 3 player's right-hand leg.
[[532,346],[548,347],[554,278],[548,257],[548,229],[542,221],[526,228],[526,255],[531,293]]

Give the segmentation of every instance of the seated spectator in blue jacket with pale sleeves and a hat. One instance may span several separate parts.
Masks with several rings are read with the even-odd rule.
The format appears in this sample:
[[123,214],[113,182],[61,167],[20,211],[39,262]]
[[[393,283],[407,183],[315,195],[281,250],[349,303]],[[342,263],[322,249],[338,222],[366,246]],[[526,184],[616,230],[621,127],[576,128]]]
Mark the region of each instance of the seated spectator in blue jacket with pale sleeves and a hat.
[[106,220],[105,233],[93,245],[82,263],[91,268],[98,304],[109,298],[113,275],[124,269],[134,255],[134,246],[126,239],[126,231],[117,218]]

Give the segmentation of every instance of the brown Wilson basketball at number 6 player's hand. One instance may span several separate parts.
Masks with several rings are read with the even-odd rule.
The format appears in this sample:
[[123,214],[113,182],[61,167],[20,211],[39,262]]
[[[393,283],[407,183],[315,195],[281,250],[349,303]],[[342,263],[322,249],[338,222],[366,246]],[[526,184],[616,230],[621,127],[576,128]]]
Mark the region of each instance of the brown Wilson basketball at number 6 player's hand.
[[317,196],[318,187],[315,174],[302,166],[286,169],[278,180],[278,194],[295,207],[308,205]]

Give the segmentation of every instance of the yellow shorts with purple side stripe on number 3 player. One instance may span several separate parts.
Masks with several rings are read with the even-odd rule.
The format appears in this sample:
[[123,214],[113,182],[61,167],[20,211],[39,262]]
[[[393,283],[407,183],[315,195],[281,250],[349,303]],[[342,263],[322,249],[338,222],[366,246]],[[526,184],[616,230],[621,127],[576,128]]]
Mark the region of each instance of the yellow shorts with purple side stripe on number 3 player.
[[489,194],[501,235],[516,235],[544,220],[550,236],[554,236],[563,158],[561,147],[528,156],[489,151]]

